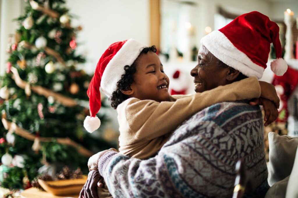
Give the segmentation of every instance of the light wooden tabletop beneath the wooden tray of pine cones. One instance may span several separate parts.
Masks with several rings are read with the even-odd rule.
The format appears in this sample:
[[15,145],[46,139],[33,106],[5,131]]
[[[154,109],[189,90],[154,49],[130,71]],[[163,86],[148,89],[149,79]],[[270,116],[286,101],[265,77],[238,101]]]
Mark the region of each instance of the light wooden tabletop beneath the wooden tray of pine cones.
[[55,196],[45,191],[40,191],[37,188],[26,189],[21,193],[26,198],[78,198],[79,194]]

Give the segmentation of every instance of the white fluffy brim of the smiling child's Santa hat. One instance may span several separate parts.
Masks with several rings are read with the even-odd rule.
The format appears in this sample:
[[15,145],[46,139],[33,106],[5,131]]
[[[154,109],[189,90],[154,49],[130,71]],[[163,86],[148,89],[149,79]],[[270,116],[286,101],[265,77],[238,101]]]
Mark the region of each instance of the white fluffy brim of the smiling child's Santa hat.
[[124,66],[131,66],[144,47],[147,46],[129,39],[107,64],[100,82],[101,90],[106,96],[110,97],[117,90],[117,82],[121,80],[121,75],[125,74]]

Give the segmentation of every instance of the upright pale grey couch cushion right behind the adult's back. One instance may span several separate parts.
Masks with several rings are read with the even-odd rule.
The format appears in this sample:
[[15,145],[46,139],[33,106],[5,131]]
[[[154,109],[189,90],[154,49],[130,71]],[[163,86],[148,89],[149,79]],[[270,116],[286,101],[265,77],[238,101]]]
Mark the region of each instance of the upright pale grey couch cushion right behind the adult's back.
[[280,136],[277,133],[270,132],[268,134],[268,140],[268,184],[269,186],[273,186],[291,174],[298,145],[298,137]]

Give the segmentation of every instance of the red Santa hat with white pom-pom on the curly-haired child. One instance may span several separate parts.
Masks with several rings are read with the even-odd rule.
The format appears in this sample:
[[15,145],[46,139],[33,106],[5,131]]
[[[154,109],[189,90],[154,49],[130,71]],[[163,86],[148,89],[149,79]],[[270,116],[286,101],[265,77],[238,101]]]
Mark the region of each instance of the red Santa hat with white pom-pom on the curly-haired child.
[[100,57],[87,91],[90,116],[84,120],[84,127],[88,132],[92,133],[100,127],[100,119],[96,116],[101,107],[99,88],[110,97],[117,90],[121,75],[125,74],[124,66],[131,66],[144,47],[147,46],[134,39],[115,42]]

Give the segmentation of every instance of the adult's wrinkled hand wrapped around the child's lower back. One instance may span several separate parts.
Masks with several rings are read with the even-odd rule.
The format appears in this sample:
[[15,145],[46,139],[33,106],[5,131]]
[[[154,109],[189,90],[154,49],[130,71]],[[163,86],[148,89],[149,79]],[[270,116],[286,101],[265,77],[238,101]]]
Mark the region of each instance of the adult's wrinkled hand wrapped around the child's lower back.
[[98,198],[97,186],[103,188],[104,178],[98,172],[98,160],[108,151],[116,151],[114,148],[110,148],[105,151],[101,151],[91,156],[88,160],[89,174],[85,185],[83,186],[79,198]]

